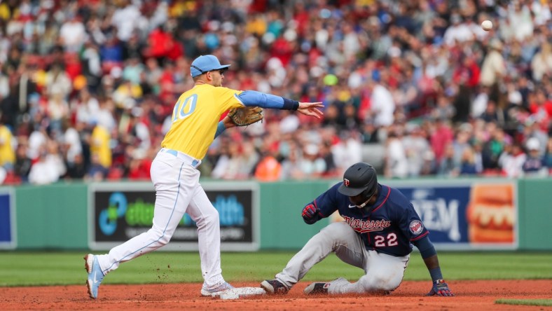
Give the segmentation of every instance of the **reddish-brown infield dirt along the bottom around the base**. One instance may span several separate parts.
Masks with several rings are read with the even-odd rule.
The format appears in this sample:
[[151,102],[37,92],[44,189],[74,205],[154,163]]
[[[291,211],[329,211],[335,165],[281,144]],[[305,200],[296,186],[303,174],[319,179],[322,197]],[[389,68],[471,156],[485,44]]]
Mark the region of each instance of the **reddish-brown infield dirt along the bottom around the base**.
[[[495,305],[499,298],[552,298],[552,279],[453,281],[455,297],[425,297],[429,282],[403,282],[390,296],[305,296],[302,282],[283,296],[239,300],[200,297],[201,284],[110,285],[99,299],[88,298],[86,286],[0,288],[0,310],[552,310],[552,307]],[[258,284],[233,283],[234,286]]]

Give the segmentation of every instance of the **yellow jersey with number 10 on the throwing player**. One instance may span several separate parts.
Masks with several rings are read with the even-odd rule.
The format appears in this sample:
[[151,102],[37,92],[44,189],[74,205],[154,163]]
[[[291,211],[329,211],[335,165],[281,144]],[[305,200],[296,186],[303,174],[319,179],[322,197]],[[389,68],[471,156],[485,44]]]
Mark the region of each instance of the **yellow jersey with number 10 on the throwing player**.
[[214,140],[222,113],[244,106],[237,98],[241,93],[209,84],[195,85],[182,93],[172,110],[172,124],[161,146],[201,160]]

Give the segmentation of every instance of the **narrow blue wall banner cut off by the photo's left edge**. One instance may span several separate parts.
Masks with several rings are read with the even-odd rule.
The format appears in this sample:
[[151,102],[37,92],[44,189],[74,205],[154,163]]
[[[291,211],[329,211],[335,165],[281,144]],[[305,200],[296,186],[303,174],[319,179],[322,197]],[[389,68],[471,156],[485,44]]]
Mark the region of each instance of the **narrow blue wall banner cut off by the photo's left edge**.
[[11,188],[0,188],[0,249],[15,249],[15,195]]

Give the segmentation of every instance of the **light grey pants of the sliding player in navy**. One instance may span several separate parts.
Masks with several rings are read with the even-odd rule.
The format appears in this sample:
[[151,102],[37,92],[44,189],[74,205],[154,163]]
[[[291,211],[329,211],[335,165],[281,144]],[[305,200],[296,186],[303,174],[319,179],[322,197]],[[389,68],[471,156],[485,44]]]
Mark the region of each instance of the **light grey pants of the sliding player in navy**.
[[345,222],[331,223],[313,236],[307,244],[287,263],[286,268],[276,275],[291,288],[315,264],[331,252],[345,263],[364,270],[365,275],[355,283],[336,282],[328,288],[329,293],[373,293],[393,291],[402,282],[408,265],[407,256],[391,256],[368,251],[358,235]]

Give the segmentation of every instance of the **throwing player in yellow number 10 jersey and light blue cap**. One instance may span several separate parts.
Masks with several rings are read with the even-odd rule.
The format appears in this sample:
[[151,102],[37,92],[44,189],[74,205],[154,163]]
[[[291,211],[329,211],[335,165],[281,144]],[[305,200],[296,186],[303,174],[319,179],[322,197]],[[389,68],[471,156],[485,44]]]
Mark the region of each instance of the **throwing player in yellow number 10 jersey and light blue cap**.
[[221,270],[221,237],[219,213],[199,183],[196,169],[212,141],[226,128],[235,126],[226,116],[230,108],[260,106],[296,110],[321,118],[321,102],[297,102],[292,99],[256,91],[239,91],[222,87],[223,71],[214,55],[202,55],[191,64],[194,86],[180,95],[172,111],[172,125],[151,165],[151,181],[156,189],[153,226],[127,242],[113,247],[109,254],[84,257],[88,272],[90,298],[98,296],[104,275],[120,263],[156,250],[167,244],[179,221],[188,213],[198,226],[201,272],[204,279],[202,296],[215,296],[233,286],[224,281]]

